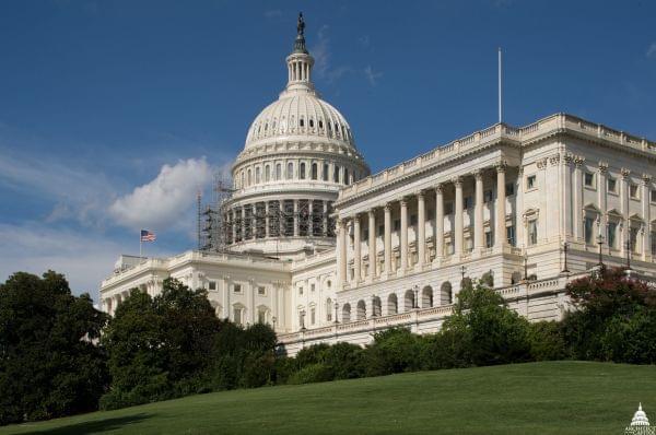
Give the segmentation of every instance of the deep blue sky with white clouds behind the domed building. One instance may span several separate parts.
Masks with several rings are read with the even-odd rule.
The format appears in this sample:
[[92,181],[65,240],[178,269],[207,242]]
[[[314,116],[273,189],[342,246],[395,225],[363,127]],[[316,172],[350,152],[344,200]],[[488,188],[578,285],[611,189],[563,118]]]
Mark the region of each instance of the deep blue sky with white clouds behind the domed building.
[[195,246],[194,202],[286,80],[315,83],[377,172],[496,120],[567,111],[656,140],[654,1],[3,1],[0,282],[97,295],[121,252]]

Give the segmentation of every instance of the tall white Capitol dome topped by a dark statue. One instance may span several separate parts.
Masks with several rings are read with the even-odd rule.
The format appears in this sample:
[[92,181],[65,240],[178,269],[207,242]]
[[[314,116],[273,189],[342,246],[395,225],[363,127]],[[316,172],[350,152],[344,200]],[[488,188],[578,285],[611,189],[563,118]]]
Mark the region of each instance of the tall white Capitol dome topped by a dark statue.
[[332,202],[370,175],[342,114],[319,97],[305,22],[286,57],[288,83],[251,122],[223,207],[232,250],[297,258],[335,246]]

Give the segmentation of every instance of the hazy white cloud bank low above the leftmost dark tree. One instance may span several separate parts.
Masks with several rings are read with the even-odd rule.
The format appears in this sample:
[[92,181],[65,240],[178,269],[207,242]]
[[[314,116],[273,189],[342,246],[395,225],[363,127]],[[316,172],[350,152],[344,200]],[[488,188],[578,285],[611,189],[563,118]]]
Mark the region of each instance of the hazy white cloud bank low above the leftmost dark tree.
[[0,282],[17,271],[40,275],[51,269],[66,274],[73,293],[87,292],[98,301],[101,280],[121,251],[118,243],[93,232],[0,223]]

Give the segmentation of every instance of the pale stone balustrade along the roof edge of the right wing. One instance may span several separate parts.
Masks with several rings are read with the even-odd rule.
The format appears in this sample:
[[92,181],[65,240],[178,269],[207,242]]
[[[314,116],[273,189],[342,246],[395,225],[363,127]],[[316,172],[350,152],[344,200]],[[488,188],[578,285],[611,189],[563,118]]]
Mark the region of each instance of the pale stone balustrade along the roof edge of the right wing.
[[575,116],[555,114],[522,128],[511,127],[505,124],[496,124],[484,130],[477,131],[465,138],[437,146],[418,157],[402,162],[341,189],[338,202],[427,166],[440,165],[444,161],[453,158],[460,152],[473,150],[492,141],[499,141],[501,139],[507,139],[509,141],[529,141],[542,137],[550,131],[563,129],[593,136],[620,145],[631,146],[635,150],[651,152],[656,155],[656,142],[626,134],[602,125],[593,124]]

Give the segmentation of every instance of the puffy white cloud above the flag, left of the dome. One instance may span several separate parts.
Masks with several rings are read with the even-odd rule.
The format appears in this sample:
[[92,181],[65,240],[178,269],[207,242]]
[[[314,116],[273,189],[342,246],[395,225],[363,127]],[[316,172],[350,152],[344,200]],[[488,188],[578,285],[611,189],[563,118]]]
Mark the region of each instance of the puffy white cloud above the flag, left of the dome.
[[161,230],[174,225],[194,209],[196,192],[212,179],[206,158],[178,161],[164,165],[152,181],[116,199],[109,213],[125,226]]

